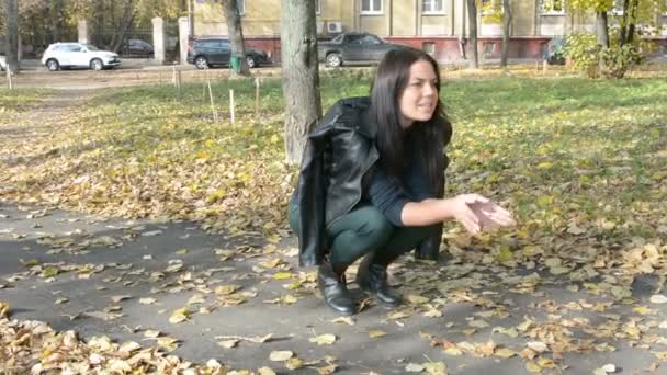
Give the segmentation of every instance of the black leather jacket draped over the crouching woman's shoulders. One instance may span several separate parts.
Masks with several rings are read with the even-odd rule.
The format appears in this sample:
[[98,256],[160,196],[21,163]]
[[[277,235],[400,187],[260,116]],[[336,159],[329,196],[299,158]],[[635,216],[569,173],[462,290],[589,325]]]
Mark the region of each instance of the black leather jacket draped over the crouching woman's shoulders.
[[[308,136],[296,188],[301,265],[321,263],[325,228],[349,213],[362,198],[362,179],[378,159],[374,141],[376,128],[369,118],[369,98],[340,100]],[[444,151],[442,155],[446,158]],[[438,197],[443,196],[444,169],[432,191]],[[416,257],[438,259],[441,237],[442,225],[437,235],[419,245]]]

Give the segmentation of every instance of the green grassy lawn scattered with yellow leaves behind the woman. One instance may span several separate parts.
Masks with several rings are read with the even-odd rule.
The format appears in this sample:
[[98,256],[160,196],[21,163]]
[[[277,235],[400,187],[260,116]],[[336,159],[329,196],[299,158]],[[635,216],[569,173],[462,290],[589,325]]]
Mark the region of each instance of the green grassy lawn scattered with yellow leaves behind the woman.
[[[364,70],[323,75],[324,107],[368,94],[370,82]],[[57,157],[8,166],[16,188],[4,195],[275,239],[296,175],[283,163],[281,81],[263,79],[259,114],[252,80],[212,92],[218,123],[203,83],[99,92],[44,145]],[[664,77],[464,77],[445,80],[441,98],[454,124],[448,195],[477,192],[515,211],[520,225],[502,235],[512,249],[602,251],[667,230]]]

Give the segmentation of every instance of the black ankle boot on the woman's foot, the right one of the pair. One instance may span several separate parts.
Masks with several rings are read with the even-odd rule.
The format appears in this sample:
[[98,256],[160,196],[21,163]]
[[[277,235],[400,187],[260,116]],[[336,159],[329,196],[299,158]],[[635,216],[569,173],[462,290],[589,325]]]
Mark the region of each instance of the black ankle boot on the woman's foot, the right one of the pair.
[[403,304],[400,295],[389,286],[387,265],[374,263],[372,255],[364,258],[359,265],[357,284],[386,306],[396,307]]

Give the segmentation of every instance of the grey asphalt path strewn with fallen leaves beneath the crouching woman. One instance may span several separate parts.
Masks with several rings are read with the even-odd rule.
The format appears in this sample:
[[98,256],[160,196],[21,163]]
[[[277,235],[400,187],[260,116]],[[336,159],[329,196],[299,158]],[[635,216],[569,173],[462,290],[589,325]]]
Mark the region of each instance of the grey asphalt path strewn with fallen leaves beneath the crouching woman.
[[[257,241],[212,236],[192,223],[101,219],[10,204],[0,205],[0,300],[10,303],[13,318],[47,321],[57,330],[72,329],[87,339],[106,334],[114,340],[145,344],[149,342],[142,341],[144,330],[159,330],[182,340],[174,352],[179,356],[197,362],[217,359],[233,368],[271,366],[286,373],[280,363],[269,360],[269,354],[291,350],[308,361],[332,355],[338,359],[341,374],[403,374],[408,363],[423,363],[429,359],[446,363],[450,374],[516,375],[528,373],[525,361],[517,355],[511,359],[470,353],[452,356],[444,354],[442,346],[433,346],[438,341],[429,336],[434,340],[473,344],[493,340],[520,352],[528,341],[555,339],[555,342],[567,340],[581,344],[584,341],[579,339],[590,339],[596,327],[601,330],[613,321],[626,322],[636,316],[630,311],[633,306],[622,305],[610,306],[602,315],[596,314],[590,310],[592,305],[578,303],[604,303],[609,302],[608,296],[567,291],[553,281],[545,280],[530,293],[520,293],[518,285],[508,287],[508,282],[501,281],[510,275],[525,275],[524,271],[468,268],[454,260],[423,265],[408,258],[394,270],[398,275],[394,282],[403,284],[400,291],[406,296],[426,296],[433,307],[430,311],[442,316],[426,314],[429,310],[419,300],[393,311],[371,304],[350,326],[332,322],[337,316],[316,296],[314,284],[306,281],[306,274],[298,276],[312,270],[296,268],[294,239],[285,239],[274,248]],[[284,263],[269,264],[276,259]],[[42,269],[31,272],[24,265],[31,261],[42,264]],[[59,270],[57,275],[42,274],[39,270],[47,263]],[[95,271],[89,273],[84,269]],[[276,276],[281,272],[292,275],[276,280],[282,277]],[[286,288],[298,280],[303,281],[299,287]],[[651,293],[651,282],[635,288],[640,302],[645,302]],[[442,283],[459,283],[461,288],[443,294]],[[216,298],[213,291],[230,284],[241,287],[245,303],[233,305]],[[351,287],[361,298],[354,284]],[[171,312],[186,306],[195,295],[201,296],[202,303],[191,305],[195,311],[192,318],[179,325],[170,323]],[[114,296],[125,297],[114,302]],[[155,298],[155,303],[144,305],[142,298]],[[283,302],[278,303],[281,298]],[[583,310],[575,307],[581,305]],[[196,312],[199,307],[206,308]],[[666,318],[665,308],[652,308],[652,315],[637,320],[640,323]],[[112,320],[104,320],[114,316]],[[520,327],[527,320],[542,330],[519,331],[518,337],[504,334],[502,329],[491,333],[494,327]],[[565,331],[559,328],[564,320],[572,323]],[[577,321],[587,323],[577,326]],[[652,326],[651,334],[665,333],[656,328],[657,323]],[[467,331],[473,327],[475,332]],[[619,327],[622,333],[624,326]],[[371,338],[372,331],[383,331],[386,336]],[[216,343],[224,336],[269,333],[273,333],[275,340],[240,342],[234,349],[223,349]],[[309,342],[310,338],[324,333],[336,334],[337,341],[332,345]],[[603,346],[597,351],[591,344],[581,345],[580,353],[566,351],[564,359],[557,361],[564,374],[591,374],[607,363],[615,364],[623,374],[640,374],[652,363],[659,363],[651,351],[665,349],[665,342],[654,340],[653,345],[643,348],[642,339],[622,338],[622,334],[620,340],[593,341],[597,345],[607,342],[615,351]],[[553,357],[551,353],[543,356]],[[313,373],[312,370],[302,372]],[[544,374],[552,373],[558,371],[544,371]],[[656,373],[665,374],[667,370],[658,367]]]

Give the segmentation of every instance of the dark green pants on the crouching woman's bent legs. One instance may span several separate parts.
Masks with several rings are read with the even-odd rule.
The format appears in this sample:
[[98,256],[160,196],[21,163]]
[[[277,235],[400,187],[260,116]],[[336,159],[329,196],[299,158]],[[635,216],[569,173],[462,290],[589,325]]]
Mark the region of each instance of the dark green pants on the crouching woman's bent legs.
[[[298,206],[290,207],[290,226],[299,232]],[[438,228],[395,227],[372,205],[361,205],[327,227],[327,247],[331,263],[349,265],[359,258],[373,254],[373,262],[388,265],[402,254],[415,249]]]

